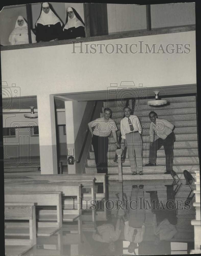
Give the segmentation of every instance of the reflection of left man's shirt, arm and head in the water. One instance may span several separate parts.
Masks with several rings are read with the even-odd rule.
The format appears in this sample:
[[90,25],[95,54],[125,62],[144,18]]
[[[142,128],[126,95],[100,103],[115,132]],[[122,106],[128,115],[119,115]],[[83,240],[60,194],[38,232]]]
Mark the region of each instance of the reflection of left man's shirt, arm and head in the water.
[[121,233],[121,229],[120,229],[121,217],[122,217],[121,215],[118,215],[115,229],[114,229],[114,226],[110,223],[103,224],[97,227],[97,233],[96,231],[94,231],[94,233],[92,234],[92,238],[99,242],[109,243],[110,251],[115,251],[114,242],[119,239],[119,236]]

